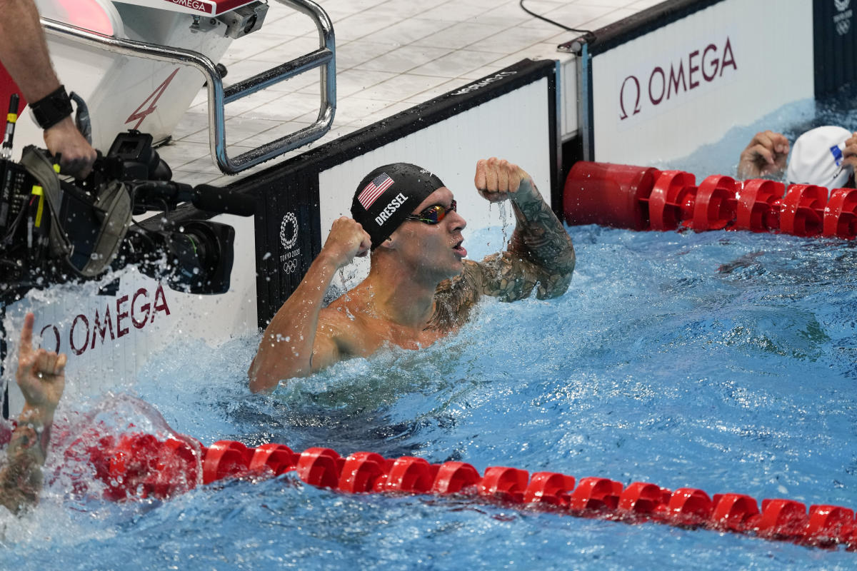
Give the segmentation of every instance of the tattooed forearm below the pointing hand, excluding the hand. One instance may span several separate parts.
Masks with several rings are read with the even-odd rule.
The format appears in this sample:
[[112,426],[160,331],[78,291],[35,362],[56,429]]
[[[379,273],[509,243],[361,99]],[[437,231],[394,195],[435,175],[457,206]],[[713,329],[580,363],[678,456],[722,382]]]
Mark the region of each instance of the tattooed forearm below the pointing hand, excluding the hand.
[[0,471],[0,503],[17,514],[39,499],[42,465],[51,440],[51,426],[21,422],[6,449],[6,467]]

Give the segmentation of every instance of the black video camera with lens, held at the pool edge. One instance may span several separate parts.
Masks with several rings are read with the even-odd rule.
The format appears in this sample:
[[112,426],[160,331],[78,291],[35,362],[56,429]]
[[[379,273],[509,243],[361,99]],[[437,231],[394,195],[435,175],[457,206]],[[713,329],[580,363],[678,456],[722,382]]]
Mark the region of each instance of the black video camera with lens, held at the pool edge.
[[[189,185],[171,181],[171,176],[169,166],[153,149],[152,136],[134,130],[117,135],[85,181],[60,181],[58,196],[52,200],[32,170],[0,160],[0,300],[9,295],[15,299],[30,288],[89,277],[92,272],[84,269],[99,257],[103,271],[133,264],[179,291],[225,293],[235,230],[205,219],[195,209],[189,209],[189,217],[180,223],[169,216],[180,203],[196,205],[204,196]],[[119,198],[130,200],[135,215],[161,214],[137,223],[126,210],[125,217],[111,219],[111,211],[102,204],[108,192],[127,193]],[[205,202],[207,210],[218,211],[211,202]],[[99,249],[105,232],[119,240],[108,255]],[[65,247],[57,246],[57,235]]]

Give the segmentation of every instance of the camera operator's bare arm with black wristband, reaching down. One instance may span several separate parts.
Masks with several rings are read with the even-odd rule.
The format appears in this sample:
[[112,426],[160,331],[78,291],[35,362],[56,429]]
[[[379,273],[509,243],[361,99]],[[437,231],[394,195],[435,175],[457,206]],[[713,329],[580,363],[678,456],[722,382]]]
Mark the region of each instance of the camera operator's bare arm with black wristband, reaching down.
[[[61,155],[63,173],[85,178],[92,170],[95,149],[87,143],[71,119],[71,104],[51,67],[39,12],[33,0],[0,0],[0,62],[9,71],[30,106],[63,110],[48,113],[51,124],[42,123],[45,145]],[[8,102],[0,102],[5,109]],[[69,114],[64,113],[68,105]],[[53,115],[53,116],[51,116]]]

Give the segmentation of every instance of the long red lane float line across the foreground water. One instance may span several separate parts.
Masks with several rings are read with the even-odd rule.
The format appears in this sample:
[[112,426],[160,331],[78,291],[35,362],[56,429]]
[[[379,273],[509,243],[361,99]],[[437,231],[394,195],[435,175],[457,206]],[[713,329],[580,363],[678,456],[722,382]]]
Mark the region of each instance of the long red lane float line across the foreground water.
[[[812,199],[806,207],[814,207]],[[459,494],[522,507],[542,505],[582,517],[654,521],[857,550],[854,510],[841,506],[812,505],[807,511],[805,504],[781,498],[764,499],[760,510],[756,500],[744,494],[709,497],[695,488],[670,491],[648,482],[625,486],[606,478],[578,481],[562,473],[530,475],[514,467],[488,467],[480,476],[475,467],[458,461],[430,464],[423,458],[387,459],[374,452],[343,458],[328,448],[298,454],[283,444],[251,449],[221,440],[206,448],[191,437],[159,441],[147,434],[92,438],[89,442],[94,444],[82,448],[81,442],[70,447],[66,456],[88,459],[96,477],[105,483],[104,496],[117,501],[165,499],[220,479],[269,478],[294,471],[309,485],[348,493]]]

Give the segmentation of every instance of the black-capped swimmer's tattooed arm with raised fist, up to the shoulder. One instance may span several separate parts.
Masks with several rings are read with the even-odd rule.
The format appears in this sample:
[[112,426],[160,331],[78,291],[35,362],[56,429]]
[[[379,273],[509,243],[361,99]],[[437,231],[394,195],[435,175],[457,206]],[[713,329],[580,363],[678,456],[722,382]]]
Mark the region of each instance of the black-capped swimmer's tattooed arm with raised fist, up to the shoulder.
[[517,164],[497,158],[476,163],[476,188],[490,202],[510,200],[517,224],[506,252],[476,263],[464,260],[460,276],[441,282],[432,325],[449,330],[466,321],[483,294],[503,301],[540,300],[566,292],[574,271],[572,239],[532,178]]

